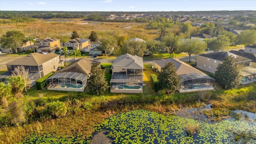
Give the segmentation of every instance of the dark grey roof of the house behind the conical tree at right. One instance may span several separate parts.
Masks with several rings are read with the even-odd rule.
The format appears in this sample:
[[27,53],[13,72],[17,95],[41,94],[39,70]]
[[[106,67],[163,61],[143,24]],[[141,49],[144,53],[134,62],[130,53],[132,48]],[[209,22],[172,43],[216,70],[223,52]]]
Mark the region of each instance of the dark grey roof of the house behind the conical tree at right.
[[230,53],[230,52],[210,52],[205,54],[198,54],[198,56],[203,56],[206,58],[211,58],[218,61],[223,61],[226,56],[233,56],[235,58],[235,62],[244,62],[244,61],[251,61],[248,58],[244,58],[242,56],[236,56],[236,54]]

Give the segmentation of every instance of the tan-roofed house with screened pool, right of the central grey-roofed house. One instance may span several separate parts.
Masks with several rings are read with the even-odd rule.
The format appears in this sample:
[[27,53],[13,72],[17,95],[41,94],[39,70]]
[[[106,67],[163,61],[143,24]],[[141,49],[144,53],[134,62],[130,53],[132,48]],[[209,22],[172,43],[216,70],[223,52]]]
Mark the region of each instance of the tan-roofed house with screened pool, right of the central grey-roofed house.
[[215,80],[213,78],[180,60],[174,58],[161,59],[154,62],[154,66],[161,71],[168,62],[174,63],[176,73],[181,78],[178,88],[179,92],[197,92],[214,89]]

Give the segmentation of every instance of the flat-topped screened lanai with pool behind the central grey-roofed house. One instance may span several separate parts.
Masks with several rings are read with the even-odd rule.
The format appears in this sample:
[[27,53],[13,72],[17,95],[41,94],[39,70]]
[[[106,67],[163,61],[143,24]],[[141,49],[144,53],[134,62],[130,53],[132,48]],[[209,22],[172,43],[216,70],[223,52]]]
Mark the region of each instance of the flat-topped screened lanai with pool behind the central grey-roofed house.
[[142,75],[126,75],[118,72],[112,75],[110,80],[110,92],[140,93],[142,90]]

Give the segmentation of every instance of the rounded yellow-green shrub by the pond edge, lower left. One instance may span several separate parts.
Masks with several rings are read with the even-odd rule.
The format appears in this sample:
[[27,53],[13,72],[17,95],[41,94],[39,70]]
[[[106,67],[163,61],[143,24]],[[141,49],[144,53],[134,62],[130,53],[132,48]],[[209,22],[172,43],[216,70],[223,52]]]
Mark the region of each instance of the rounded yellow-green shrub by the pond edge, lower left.
[[56,118],[65,116],[67,113],[67,108],[64,102],[50,102],[46,104],[46,107],[48,109],[48,113]]

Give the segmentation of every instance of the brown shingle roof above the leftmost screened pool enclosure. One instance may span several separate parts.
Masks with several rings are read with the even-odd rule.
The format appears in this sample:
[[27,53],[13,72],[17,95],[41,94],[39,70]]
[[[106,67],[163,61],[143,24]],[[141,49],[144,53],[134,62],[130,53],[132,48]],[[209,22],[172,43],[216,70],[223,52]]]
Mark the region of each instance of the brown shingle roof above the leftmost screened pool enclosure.
[[100,64],[100,62],[96,62],[91,58],[80,58],[75,60],[65,68],[61,69],[60,72],[78,72],[81,74],[89,75],[91,72],[91,66],[93,64]]

